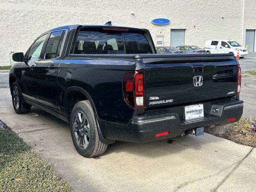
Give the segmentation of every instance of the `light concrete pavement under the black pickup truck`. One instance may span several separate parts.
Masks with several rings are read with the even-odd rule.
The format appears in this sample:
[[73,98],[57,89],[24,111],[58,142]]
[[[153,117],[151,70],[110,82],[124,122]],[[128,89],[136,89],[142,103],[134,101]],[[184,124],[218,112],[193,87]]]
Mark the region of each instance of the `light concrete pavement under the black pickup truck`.
[[255,191],[256,150],[210,134],[144,144],[115,142],[97,158],[80,156],[66,122],[32,107],[18,115],[0,89],[0,119],[76,191]]

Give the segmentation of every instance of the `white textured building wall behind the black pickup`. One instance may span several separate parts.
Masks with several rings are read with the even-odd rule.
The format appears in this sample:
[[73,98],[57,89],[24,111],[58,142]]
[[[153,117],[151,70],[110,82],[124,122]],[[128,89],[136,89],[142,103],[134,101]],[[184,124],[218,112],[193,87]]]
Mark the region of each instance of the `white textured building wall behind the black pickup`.
[[[26,52],[42,32],[67,24],[105,24],[147,28],[154,42],[171,29],[186,29],[185,43],[203,47],[206,39],[242,40],[243,0],[0,0],[0,65],[10,51]],[[134,13],[133,15],[131,13]],[[256,29],[256,1],[246,0],[246,28]],[[222,18],[223,17],[223,18]],[[168,25],[151,23],[167,18]],[[245,42],[245,37],[244,37]],[[244,44],[243,42],[243,44]]]

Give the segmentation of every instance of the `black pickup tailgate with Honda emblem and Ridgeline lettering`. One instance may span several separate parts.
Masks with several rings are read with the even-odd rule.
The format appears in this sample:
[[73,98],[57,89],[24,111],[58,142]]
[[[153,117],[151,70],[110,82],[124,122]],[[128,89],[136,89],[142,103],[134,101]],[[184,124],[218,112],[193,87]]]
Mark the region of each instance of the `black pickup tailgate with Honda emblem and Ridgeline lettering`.
[[231,55],[155,57],[143,62],[146,108],[200,103],[237,93],[238,64]]

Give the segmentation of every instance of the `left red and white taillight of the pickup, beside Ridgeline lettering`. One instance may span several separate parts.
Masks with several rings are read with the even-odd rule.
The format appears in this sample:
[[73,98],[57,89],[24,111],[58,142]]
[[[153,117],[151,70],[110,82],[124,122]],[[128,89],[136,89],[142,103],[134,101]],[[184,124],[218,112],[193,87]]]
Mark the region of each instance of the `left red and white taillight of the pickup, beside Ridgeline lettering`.
[[126,72],[122,84],[126,103],[134,109],[144,108],[144,72]]

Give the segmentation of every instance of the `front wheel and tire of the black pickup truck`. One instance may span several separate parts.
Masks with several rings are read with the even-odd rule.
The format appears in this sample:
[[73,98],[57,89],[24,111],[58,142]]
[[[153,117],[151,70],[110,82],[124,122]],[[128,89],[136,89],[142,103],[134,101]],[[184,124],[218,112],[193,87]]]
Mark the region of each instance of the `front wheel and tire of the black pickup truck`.
[[12,106],[17,114],[28,113],[31,109],[31,106],[24,102],[17,81],[12,84]]

